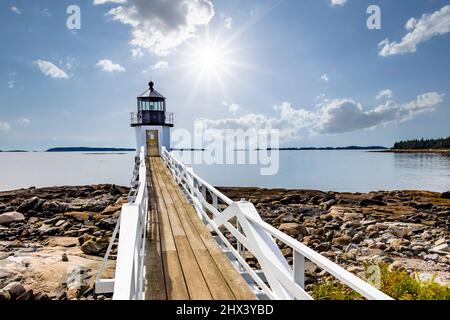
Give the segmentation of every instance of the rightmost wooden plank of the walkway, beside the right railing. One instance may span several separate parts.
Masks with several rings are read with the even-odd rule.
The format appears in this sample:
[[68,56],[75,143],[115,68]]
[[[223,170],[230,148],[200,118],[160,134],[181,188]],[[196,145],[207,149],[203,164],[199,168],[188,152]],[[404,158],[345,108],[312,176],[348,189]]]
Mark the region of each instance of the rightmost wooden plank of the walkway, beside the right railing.
[[[164,164],[163,164],[164,165]],[[166,169],[165,174],[170,175],[170,172]],[[175,182],[173,182],[175,185]],[[172,191],[177,194],[178,198],[185,199],[185,195],[182,193],[181,189],[175,185]],[[218,266],[223,278],[227,282],[229,288],[233,292],[234,296],[238,300],[254,300],[256,296],[251,291],[248,284],[245,282],[244,278],[236,271],[234,266],[231,264],[229,259],[225,256],[222,249],[219,247],[217,242],[211,236],[210,231],[205,227],[203,222],[199,219],[197,212],[194,207],[188,203],[186,200],[182,201],[185,207],[187,216],[189,217],[192,226],[196,229],[199,237],[202,239],[204,246],[209,251],[210,256],[215,261]]]

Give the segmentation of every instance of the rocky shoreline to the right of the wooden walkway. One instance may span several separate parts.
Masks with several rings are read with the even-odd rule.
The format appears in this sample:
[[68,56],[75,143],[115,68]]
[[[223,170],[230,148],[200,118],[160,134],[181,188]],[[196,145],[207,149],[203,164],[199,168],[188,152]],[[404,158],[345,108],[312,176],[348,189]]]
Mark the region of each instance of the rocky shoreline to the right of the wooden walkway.
[[[450,192],[219,190],[251,201],[267,223],[362,278],[367,265],[382,263],[450,285]],[[292,259],[290,248],[281,249]],[[306,273],[308,285],[325,274],[312,263]]]

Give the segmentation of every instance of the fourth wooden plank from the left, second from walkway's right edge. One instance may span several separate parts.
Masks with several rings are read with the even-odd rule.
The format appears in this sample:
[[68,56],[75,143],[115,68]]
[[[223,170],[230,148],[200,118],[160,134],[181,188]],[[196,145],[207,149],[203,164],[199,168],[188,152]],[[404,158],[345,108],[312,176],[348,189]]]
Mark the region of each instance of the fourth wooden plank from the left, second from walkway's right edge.
[[[167,169],[163,167],[162,162],[158,163],[158,166],[162,166],[162,171]],[[163,174],[163,173],[162,173]],[[165,174],[165,173],[164,173]],[[212,298],[215,300],[235,300],[233,292],[230,290],[227,282],[222,276],[219,267],[214,262],[208,249],[200,238],[197,230],[193,226],[191,220],[188,217],[188,213],[185,207],[187,200],[185,197],[180,197],[176,192],[179,189],[178,185],[175,185],[173,179],[165,174],[163,178],[166,191],[171,195],[172,200],[178,212],[178,217],[184,228],[189,244],[194,252],[197,263],[201,269],[203,277],[211,292]]]

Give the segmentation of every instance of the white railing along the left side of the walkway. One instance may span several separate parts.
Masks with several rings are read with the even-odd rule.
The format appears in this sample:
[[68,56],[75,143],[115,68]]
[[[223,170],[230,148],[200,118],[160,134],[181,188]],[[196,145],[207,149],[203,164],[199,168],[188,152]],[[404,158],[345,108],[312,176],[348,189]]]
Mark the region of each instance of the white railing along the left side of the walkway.
[[[148,222],[147,168],[142,148],[136,163],[129,203],[122,207],[103,265],[96,279],[97,293],[114,292],[114,300],[144,300],[145,247]],[[115,279],[100,279],[119,232]]]

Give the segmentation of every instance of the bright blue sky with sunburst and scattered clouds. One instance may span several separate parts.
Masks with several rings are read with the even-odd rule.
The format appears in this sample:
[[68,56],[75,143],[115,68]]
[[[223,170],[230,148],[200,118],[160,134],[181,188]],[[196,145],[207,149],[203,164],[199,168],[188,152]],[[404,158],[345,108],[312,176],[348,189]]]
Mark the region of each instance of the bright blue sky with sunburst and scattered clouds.
[[286,147],[450,135],[450,1],[2,0],[0,21],[0,150],[133,147],[150,79],[176,128],[278,129]]

